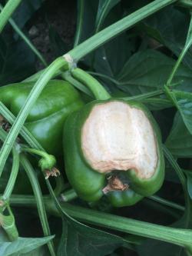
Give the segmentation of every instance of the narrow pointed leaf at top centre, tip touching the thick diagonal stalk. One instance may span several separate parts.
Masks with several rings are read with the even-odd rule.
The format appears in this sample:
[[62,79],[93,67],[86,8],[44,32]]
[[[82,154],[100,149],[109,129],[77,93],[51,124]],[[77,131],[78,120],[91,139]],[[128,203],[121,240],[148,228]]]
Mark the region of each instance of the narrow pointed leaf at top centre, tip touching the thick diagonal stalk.
[[98,14],[95,22],[96,32],[101,30],[104,19],[107,17],[111,9],[118,4],[118,2],[120,2],[120,0],[99,0]]

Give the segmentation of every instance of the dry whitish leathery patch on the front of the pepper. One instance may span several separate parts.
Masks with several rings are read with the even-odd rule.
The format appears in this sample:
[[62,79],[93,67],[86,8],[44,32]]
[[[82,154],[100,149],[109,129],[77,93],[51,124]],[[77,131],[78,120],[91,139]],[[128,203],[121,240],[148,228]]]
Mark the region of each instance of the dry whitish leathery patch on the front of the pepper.
[[95,105],[81,133],[84,158],[101,173],[134,169],[151,178],[157,167],[157,142],[144,111],[122,101]]

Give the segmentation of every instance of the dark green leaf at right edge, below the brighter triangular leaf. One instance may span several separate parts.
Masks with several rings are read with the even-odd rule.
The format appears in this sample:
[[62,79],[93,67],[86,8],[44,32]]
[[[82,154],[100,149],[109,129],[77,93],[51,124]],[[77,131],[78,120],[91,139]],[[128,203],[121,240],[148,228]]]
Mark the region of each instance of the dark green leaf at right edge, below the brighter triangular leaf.
[[177,158],[192,157],[192,135],[184,125],[179,112],[174,117],[174,124],[165,144]]

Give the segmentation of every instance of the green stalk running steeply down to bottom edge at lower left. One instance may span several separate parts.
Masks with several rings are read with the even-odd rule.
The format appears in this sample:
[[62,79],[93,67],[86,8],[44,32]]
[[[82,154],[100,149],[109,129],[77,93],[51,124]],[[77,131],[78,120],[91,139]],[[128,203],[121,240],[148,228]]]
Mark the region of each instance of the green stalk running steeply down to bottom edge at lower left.
[[[21,154],[20,161],[21,161],[23,168],[26,171],[26,174],[28,175],[28,178],[31,182],[33,192],[35,194],[35,201],[36,201],[37,208],[38,208],[38,214],[39,214],[39,218],[41,221],[41,227],[43,229],[45,236],[49,236],[49,235],[51,235],[51,232],[50,232],[49,225],[48,225],[48,218],[47,218],[47,214],[45,211],[45,204],[43,201],[43,196],[41,193],[40,185],[38,183],[38,179],[35,176],[35,171],[32,168],[28,159],[25,157],[25,155]],[[56,254],[55,254],[54,244],[52,241],[48,242],[48,248],[49,248],[51,256],[55,256]]]

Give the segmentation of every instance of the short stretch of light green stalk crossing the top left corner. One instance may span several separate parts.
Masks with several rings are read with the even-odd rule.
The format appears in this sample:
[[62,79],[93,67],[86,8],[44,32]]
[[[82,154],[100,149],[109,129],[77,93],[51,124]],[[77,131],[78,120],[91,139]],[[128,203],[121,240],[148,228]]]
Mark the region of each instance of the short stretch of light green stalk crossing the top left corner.
[[22,0],[9,0],[5,7],[0,13],[0,33],[8,22],[8,19],[12,16],[12,13],[15,12],[15,9],[22,2]]

